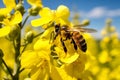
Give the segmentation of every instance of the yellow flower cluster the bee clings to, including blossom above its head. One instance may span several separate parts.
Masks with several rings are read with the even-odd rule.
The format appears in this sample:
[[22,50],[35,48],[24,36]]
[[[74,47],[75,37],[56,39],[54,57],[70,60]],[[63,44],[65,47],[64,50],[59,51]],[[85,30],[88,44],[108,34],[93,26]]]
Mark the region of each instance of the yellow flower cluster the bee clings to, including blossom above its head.
[[[64,13],[63,13],[64,12]],[[55,24],[71,26],[69,9],[60,5],[57,10],[48,7],[39,12],[40,18],[32,20],[33,26],[42,26],[45,32],[35,42],[33,50],[25,51],[21,56],[22,68],[30,69],[32,80],[77,80],[82,79],[86,63],[86,54],[75,50],[71,40],[64,41],[67,52],[63,50],[58,35],[52,40]]]

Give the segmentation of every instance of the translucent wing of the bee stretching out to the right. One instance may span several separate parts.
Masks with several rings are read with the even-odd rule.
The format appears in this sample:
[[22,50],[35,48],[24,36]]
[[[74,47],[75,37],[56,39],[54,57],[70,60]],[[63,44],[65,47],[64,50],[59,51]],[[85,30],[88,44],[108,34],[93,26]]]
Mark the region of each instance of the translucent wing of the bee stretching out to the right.
[[81,27],[74,27],[74,28],[69,29],[68,31],[88,32],[88,33],[97,32],[95,29],[81,28]]

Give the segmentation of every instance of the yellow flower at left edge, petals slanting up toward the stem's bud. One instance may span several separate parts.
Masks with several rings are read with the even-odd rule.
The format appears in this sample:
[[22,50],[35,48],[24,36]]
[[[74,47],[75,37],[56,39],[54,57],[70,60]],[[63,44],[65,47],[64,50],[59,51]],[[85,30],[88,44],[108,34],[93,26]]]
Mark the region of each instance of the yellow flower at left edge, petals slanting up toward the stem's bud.
[[19,11],[16,11],[12,16],[11,20],[5,18],[2,22],[4,26],[0,28],[0,37],[6,36],[10,33],[10,30],[13,26],[16,26],[22,21],[22,15]]

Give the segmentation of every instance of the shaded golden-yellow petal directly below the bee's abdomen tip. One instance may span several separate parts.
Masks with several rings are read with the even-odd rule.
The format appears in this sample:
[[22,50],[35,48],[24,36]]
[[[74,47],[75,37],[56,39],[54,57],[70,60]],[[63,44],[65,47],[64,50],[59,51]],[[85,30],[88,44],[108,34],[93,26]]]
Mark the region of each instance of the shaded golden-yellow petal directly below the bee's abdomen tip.
[[86,62],[86,54],[81,54],[79,58],[71,64],[65,65],[65,71],[76,78],[80,78],[80,75],[84,71]]

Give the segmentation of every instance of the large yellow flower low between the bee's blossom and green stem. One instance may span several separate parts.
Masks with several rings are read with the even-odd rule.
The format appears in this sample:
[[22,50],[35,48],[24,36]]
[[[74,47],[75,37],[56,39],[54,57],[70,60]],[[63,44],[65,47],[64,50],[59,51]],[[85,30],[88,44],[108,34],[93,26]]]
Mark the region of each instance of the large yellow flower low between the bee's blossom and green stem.
[[50,72],[49,55],[49,41],[44,39],[39,39],[35,43],[34,50],[28,50],[22,54],[21,65],[23,68],[31,70],[30,74],[32,80],[44,80],[47,78]]

